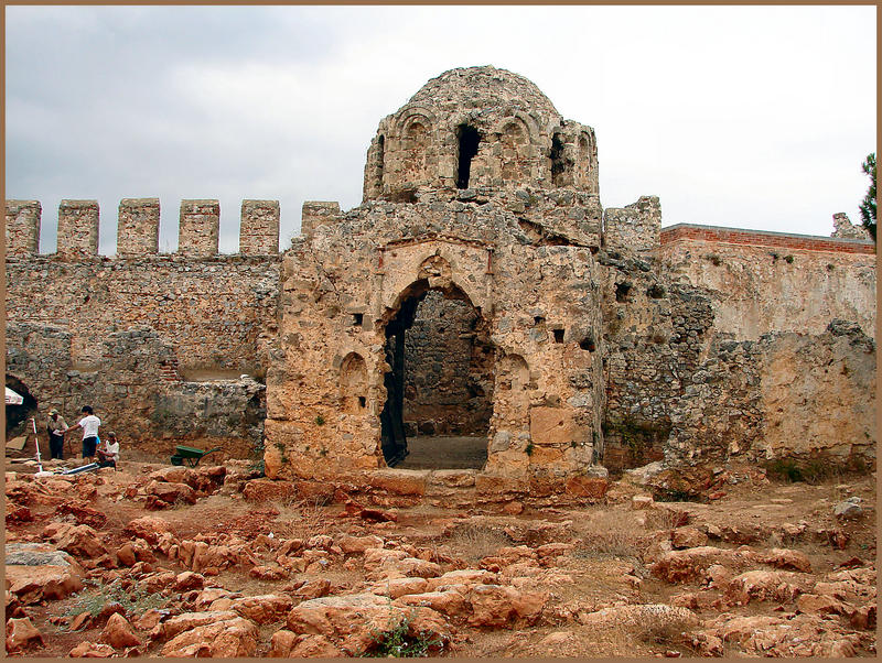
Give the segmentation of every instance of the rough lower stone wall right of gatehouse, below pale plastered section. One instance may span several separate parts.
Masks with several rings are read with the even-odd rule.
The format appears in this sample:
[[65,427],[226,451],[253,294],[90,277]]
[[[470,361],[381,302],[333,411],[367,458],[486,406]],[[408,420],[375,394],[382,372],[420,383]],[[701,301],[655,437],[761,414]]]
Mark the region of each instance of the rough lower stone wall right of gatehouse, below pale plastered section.
[[671,279],[652,258],[599,258],[609,270],[607,468],[731,457],[874,464],[874,344],[860,325],[740,339],[720,328],[717,292]]

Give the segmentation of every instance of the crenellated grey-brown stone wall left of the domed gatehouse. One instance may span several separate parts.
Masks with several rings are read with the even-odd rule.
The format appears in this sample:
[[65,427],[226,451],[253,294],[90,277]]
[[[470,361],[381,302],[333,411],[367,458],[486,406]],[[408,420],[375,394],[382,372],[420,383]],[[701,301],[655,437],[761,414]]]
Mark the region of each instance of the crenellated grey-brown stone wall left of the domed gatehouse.
[[[8,202],[17,233],[22,207],[39,211],[39,204]],[[270,205],[265,226],[277,209]],[[246,228],[250,215],[248,207]],[[26,235],[40,216],[25,218]],[[277,329],[280,260],[267,253],[278,237],[272,247],[243,248],[263,256],[195,258],[182,254],[186,244],[157,254],[158,200],[126,199],[120,257],[108,258],[82,250],[83,237],[97,241],[97,205],[66,202],[60,218],[67,225],[56,254],[34,254],[32,244],[6,263],[7,373],[26,385],[40,416],[55,405],[76,421],[92,404],[141,449],[165,455],[178,439],[250,455],[262,438],[262,381]]]

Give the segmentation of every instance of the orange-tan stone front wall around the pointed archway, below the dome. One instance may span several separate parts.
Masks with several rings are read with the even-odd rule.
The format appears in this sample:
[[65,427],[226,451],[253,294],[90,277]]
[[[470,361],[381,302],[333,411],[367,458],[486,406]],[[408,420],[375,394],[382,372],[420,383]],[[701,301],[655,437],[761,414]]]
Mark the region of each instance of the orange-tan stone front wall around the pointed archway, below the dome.
[[[267,376],[268,476],[385,465],[384,330],[427,278],[420,274],[429,263],[441,265],[429,286],[461,289],[488,325],[499,361],[526,367],[516,391],[510,379],[501,383],[510,371],[496,371],[486,471],[528,476],[590,467],[602,406],[600,357],[587,341],[600,335],[591,248],[538,219],[525,232],[512,207],[524,209],[515,193],[374,202],[294,240],[282,265],[281,327],[272,350],[279,360]],[[342,368],[361,361],[365,405],[342,412]]]

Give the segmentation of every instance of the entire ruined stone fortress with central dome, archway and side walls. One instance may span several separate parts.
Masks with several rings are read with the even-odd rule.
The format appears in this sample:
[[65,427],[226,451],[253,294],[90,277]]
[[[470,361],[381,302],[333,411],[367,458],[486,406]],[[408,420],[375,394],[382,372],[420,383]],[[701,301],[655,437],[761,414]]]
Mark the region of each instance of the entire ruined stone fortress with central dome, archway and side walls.
[[[139,447],[262,449],[270,479],[411,494],[571,494],[653,460],[875,463],[875,248],[604,208],[591,127],[529,80],[453,69],[379,123],[364,199],[245,200],[218,254],[216,200],[7,200],[7,384],[41,416],[82,403]],[[466,470],[389,470],[415,435],[480,439]],[[482,449],[483,450],[483,449]],[[443,449],[440,455],[443,456]]]

